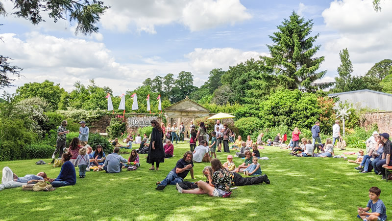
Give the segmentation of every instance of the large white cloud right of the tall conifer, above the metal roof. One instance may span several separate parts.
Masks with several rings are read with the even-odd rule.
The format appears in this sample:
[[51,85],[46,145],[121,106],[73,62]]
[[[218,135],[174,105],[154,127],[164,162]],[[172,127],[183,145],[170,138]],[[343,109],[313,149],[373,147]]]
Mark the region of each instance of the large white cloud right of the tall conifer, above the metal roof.
[[[347,48],[353,75],[364,75],[374,63],[391,58],[392,4],[375,12],[371,0],[335,0],[322,12],[325,28],[336,31],[320,35],[325,62],[321,70],[337,76],[339,52]],[[332,73],[332,74],[331,74]]]

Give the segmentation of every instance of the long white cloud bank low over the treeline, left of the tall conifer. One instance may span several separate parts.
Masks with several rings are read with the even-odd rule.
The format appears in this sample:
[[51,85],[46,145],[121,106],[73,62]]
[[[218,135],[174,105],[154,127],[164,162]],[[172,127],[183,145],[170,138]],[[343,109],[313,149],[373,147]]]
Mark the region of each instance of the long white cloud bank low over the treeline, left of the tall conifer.
[[60,83],[67,91],[73,89],[76,81],[88,84],[89,79],[95,79],[98,85],[109,86],[115,94],[122,94],[142,85],[146,78],[176,75],[180,71],[192,72],[194,85],[200,86],[214,68],[227,70],[230,65],[265,55],[234,48],[197,48],[181,60],[135,56],[135,63],[119,63],[105,44],[88,39],[58,38],[38,32],[26,33],[22,36],[24,40],[14,33],[1,35],[5,42],[0,44],[1,53],[12,57],[13,65],[24,68],[25,77],[16,80],[15,85],[48,79]]

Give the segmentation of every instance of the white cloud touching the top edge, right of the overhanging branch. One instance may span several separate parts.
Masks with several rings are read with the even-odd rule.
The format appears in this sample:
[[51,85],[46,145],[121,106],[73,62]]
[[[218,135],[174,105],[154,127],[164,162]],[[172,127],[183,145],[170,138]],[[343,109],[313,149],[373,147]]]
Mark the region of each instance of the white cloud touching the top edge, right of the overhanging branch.
[[101,17],[103,28],[126,32],[156,33],[155,26],[180,23],[191,31],[214,28],[250,19],[239,0],[107,0]]

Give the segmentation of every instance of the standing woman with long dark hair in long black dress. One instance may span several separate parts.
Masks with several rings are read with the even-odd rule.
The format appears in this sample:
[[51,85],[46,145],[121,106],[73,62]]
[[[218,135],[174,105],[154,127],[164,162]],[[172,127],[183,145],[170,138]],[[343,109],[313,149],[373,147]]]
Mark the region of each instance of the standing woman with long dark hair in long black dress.
[[156,170],[159,169],[159,163],[165,161],[165,150],[163,149],[163,132],[156,120],[151,120],[152,133],[150,145],[148,146],[147,164],[151,164],[150,170],[154,170],[154,162],[156,163]]

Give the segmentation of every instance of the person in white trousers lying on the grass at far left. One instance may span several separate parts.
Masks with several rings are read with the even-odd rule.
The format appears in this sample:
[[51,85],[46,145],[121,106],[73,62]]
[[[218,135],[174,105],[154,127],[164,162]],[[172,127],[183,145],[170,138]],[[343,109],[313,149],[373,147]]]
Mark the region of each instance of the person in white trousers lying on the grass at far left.
[[2,172],[0,191],[48,180],[49,178],[45,172],[39,172],[37,175],[27,174],[24,177],[18,177],[8,166],[5,166]]

